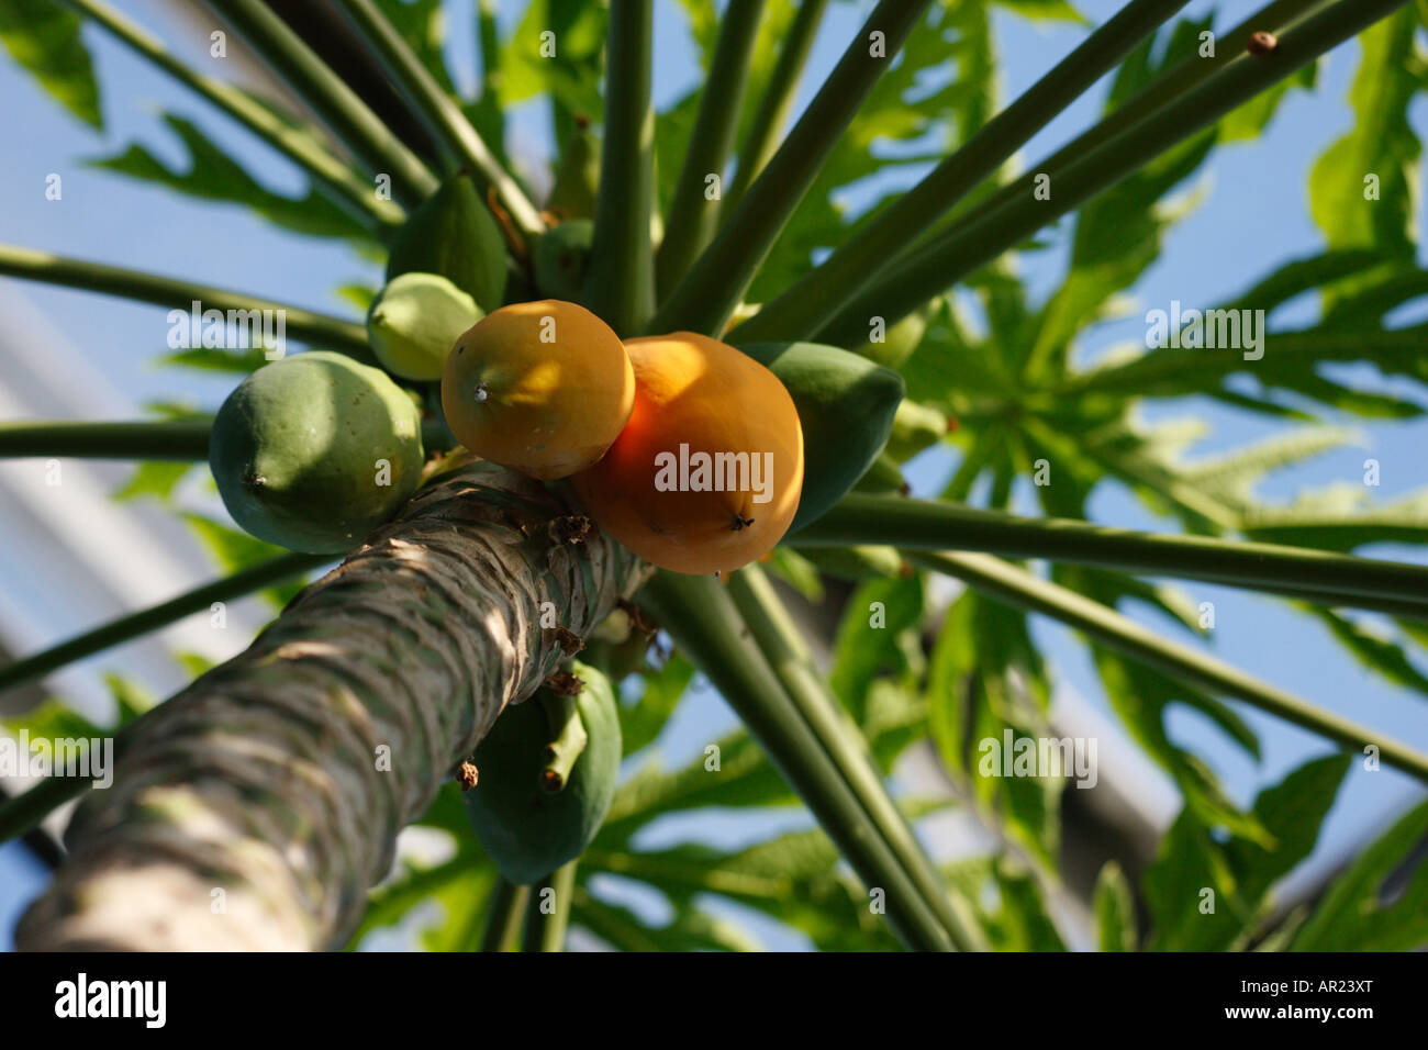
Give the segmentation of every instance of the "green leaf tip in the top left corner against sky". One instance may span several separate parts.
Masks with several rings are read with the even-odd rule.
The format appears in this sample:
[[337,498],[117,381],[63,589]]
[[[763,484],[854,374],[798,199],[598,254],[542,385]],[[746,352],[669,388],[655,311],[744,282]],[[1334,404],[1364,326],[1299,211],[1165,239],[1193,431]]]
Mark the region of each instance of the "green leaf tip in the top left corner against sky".
[[104,127],[99,81],[83,20],[51,0],[0,0],[0,43],[56,101],[94,129]]

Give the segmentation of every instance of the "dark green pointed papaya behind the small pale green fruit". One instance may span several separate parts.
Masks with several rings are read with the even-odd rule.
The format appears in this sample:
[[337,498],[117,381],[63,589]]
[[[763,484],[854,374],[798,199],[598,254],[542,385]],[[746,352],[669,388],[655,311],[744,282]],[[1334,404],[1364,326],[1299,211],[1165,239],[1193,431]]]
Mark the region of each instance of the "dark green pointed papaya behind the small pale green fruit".
[[486,313],[506,294],[506,237],[471,176],[441,183],[407,221],[387,257],[387,281],[403,273],[438,273]]

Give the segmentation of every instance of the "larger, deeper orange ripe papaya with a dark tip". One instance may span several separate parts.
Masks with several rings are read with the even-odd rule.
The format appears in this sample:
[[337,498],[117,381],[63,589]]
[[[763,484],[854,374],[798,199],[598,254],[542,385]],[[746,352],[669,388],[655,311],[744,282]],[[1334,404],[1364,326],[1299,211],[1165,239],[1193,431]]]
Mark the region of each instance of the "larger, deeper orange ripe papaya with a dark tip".
[[[587,510],[635,554],[677,573],[733,571],[773,550],[798,510],[804,476],[803,429],[783,383],[734,347],[690,331],[631,339],[625,350],[634,413],[605,457],[571,479]],[[753,486],[670,487],[681,446],[690,463],[697,453],[748,453],[760,463],[771,453],[768,500],[755,501]]]

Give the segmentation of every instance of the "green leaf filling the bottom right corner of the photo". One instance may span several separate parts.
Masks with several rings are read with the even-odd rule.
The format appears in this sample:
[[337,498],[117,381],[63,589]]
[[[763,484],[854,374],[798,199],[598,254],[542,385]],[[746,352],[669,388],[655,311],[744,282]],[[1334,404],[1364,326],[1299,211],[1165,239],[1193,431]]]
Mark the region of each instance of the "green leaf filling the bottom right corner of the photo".
[[1428,944],[1428,803],[1405,813],[1331,886],[1291,951],[1411,951]]

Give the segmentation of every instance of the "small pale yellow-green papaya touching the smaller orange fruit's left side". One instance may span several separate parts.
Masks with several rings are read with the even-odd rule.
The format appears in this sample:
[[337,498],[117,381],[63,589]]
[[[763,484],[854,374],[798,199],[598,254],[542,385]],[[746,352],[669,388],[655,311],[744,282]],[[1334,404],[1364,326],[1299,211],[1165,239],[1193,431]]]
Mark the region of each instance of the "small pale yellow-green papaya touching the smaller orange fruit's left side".
[[456,337],[486,314],[476,300],[436,273],[394,277],[367,311],[367,341],[387,371],[441,379]]

